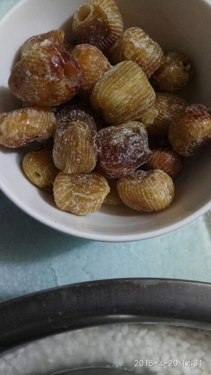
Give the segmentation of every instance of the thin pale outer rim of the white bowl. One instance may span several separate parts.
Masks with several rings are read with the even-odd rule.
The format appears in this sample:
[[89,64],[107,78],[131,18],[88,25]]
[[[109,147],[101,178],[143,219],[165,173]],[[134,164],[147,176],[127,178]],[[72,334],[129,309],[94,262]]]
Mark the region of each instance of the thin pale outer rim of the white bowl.
[[[21,7],[24,5],[24,3],[27,3],[31,0],[19,0],[18,3],[16,3],[0,20],[0,25],[4,23],[4,21],[7,20],[7,18],[10,17],[10,15],[15,12],[18,7]],[[211,10],[211,0],[199,0],[201,3],[206,3],[210,6]],[[36,219],[37,221],[49,226],[50,228],[56,229],[62,233],[69,234],[71,236],[79,237],[82,239],[87,240],[94,240],[94,241],[100,241],[100,242],[133,242],[133,241],[140,241],[140,240],[147,240],[154,237],[163,236],[164,234],[170,233],[172,231],[175,231],[189,223],[191,223],[193,220],[198,219],[198,217],[205,214],[208,210],[211,209],[211,199],[209,202],[207,202],[205,205],[203,205],[201,208],[196,210],[191,215],[185,217],[182,220],[178,220],[174,224],[167,225],[161,229],[151,230],[146,233],[139,233],[139,234],[123,234],[123,235],[111,235],[111,234],[98,234],[98,233],[89,233],[86,231],[81,231],[79,229],[75,228],[65,228],[62,224],[57,223],[54,221],[54,219],[46,219],[42,216],[42,214],[34,212],[34,210],[30,207],[28,207],[24,202],[21,201],[14,193],[12,193],[10,190],[7,189],[7,187],[4,185],[3,180],[0,180],[0,189],[1,191],[9,198],[17,207],[19,207],[22,211],[27,213],[29,216],[31,216],[33,219]]]

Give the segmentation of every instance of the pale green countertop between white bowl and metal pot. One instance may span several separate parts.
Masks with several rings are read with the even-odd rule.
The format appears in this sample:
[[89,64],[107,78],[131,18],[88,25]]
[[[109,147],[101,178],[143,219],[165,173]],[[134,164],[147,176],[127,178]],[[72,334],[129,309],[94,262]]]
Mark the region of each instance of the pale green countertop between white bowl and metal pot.
[[[16,2],[0,0],[0,18]],[[59,233],[31,219],[1,192],[0,219],[0,302],[96,279],[157,277],[211,282],[207,214],[173,233],[133,243],[93,242]]]

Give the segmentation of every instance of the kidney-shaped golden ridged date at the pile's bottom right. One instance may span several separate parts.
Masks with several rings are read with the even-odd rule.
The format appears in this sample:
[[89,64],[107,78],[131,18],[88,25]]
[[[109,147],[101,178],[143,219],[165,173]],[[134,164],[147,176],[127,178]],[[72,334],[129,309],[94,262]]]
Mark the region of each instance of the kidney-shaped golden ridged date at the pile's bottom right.
[[139,170],[121,177],[117,190],[127,206],[143,212],[161,211],[169,207],[174,198],[171,177],[159,169]]

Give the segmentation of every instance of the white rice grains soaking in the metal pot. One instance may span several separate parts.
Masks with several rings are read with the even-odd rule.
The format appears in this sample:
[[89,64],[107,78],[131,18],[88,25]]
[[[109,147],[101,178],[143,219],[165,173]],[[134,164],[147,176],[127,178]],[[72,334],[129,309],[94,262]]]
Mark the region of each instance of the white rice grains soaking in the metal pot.
[[[8,351],[0,356],[0,371],[2,375],[46,375],[80,367],[116,366],[138,374],[210,375],[210,353],[210,331],[113,324],[62,333]],[[143,366],[135,367],[137,361],[143,361]],[[178,362],[175,366],[174,361]],[[198,366],[188,366],[189,361]]]

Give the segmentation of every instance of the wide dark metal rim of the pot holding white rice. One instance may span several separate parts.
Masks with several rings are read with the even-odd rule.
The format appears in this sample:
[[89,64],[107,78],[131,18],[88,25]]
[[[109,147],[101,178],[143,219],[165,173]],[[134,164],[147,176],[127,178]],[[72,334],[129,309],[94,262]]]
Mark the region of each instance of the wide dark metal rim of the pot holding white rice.
[[0,351],[42,337],[114,323],[211,330],[211,284],[128,278],[65,285],[0,304]]

